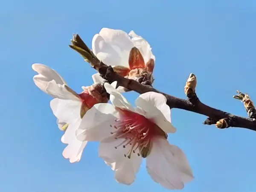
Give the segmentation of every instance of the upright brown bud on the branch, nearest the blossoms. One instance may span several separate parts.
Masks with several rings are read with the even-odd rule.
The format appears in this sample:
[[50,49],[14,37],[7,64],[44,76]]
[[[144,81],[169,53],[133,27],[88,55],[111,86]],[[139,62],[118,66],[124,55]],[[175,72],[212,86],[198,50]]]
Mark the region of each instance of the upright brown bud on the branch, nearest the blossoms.
[[195,93],[196,83],[196,76],[193,73],[190,73],[189,78],[187,79],[186,85],[184,87],[184,92],[188,97],[189,102],[191,102],[193,105],[196,105],[197,102],[199,101],[198,96]]

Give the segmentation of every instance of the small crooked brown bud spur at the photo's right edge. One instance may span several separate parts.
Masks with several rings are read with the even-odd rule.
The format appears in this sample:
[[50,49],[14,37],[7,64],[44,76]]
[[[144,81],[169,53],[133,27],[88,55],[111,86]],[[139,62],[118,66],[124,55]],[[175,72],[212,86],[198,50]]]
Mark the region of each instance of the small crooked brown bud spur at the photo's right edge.
[[247,93],[241,93],[239,90],[236,92],[238,95],[233,96],[233,98],[239,99],[242,103],[244,103],[244,108],[250,118],[256,118],[256,109],[253,101],[250,99],[250,96]]

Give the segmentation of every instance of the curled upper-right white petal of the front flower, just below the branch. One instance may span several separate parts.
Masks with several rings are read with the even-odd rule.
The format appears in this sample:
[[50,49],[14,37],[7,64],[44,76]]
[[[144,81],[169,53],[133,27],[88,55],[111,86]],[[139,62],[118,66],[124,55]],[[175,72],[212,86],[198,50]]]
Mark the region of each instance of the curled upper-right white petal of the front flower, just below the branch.
[[166,133],[175,133],[171,123],[171,110],[166,104],[166,97],[160,93],[147,92],[141,94],[135,105],[146,112],[145,117],[152,119]]

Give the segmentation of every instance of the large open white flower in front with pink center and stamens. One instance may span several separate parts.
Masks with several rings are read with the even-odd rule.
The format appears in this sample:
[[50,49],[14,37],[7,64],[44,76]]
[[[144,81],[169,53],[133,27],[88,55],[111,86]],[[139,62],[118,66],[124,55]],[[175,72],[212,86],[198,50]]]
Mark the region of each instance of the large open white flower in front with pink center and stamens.
[[175,133],[176,128],[166,97],[143,93],[134,108],[114,87],[116,82],[113,87],[105,83],[113,105],[94,105],[82,119],[77,139],[100,141],[99,156],[112,167],[120,183],[133,183],[142,157],[146,157],[148,174],[155,182],[168,189],[182,189],[193,175],[183,151],[167,141],[166,133]]

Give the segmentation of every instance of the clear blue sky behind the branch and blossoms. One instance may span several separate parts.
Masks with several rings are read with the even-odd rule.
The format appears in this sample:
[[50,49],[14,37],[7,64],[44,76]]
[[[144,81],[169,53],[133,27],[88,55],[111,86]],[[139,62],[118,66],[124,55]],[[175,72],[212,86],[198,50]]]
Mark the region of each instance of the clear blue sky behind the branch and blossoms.
[[[62,157],[65,145],[49,107],[32,81],[33,63],[57,70],[76,91],[94,70],[68,47],[73,33],[91,46],[102,27],[134,30],[156,56],[155,88],[185,98],[189,73],[210,106],[246,116],[236,90],[256,102],[255,0],[9,0],[0,3],[0,191],[166,192],[145,163],[131,186],[116,183],[90,143],[79,163]],[[136,93],[125,94],[131,102]],[[195,180],[182,192],[256,190],[256,132],[202,125],[205,116],[172,110],[177,134],[169,141],[188,156]]]

